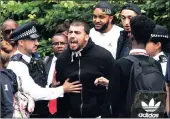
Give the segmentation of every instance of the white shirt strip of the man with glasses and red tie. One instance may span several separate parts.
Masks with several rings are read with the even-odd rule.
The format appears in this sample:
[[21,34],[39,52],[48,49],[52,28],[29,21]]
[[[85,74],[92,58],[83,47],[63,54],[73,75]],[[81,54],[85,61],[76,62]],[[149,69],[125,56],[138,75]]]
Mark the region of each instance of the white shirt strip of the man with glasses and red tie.
[[55,70],[55,64],[57,61],[57,57],[53,56],[52,62],[51,62],[51,66],[50,66],[50,70],[48,73],[48,80],[47,80],[47,85],[46,87],[49,87],[49,85],[52,83],[53,81],[53,76],[54,76],[54,70]]

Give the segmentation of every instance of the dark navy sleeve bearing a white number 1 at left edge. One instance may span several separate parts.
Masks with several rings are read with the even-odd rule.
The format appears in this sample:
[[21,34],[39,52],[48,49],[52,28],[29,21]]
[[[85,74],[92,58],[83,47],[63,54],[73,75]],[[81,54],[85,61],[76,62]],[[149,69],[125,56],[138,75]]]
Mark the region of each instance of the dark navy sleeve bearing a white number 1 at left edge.
[[10,79],[3,73],[0,73],[1,86],[1,118],[12,118],[13,115],[13,89]]

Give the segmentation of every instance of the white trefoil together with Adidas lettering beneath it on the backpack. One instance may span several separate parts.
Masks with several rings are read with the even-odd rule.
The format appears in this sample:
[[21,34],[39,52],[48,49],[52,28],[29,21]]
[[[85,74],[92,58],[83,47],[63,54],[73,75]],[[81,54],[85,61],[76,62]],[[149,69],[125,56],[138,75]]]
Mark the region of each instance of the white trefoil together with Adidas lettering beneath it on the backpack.
[[155,112],[161,105],[161,101],[157,102],[155,104],[154,99],[152,98],[149,101],[149,104],[146,104],[144,101],[141,101],[142,108],[147,112],[147,113],[139,113],[139,117],[146,117],[146,118],[158,118],[159,114],[155,114]]

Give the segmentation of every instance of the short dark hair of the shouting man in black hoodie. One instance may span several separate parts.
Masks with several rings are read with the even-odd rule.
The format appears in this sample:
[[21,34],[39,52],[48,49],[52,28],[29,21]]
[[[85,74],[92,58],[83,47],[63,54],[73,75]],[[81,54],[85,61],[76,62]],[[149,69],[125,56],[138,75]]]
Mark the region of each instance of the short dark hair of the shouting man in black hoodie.
[[73,21],[70,26],[84,26],[84,31],[86,34],[90,33],[90,26],[83,21]]

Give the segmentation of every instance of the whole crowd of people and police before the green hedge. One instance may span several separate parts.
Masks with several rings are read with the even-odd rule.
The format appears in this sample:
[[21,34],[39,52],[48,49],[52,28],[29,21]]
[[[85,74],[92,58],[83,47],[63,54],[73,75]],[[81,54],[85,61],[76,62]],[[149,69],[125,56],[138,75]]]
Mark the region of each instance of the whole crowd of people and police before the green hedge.
[[46,57],[38,56],[35,22],[2,23],[1,118],[170,117],[167,28],[132,3],[120,10],[123,28],[107,1],[92,15],[93,28],[56,26]]

